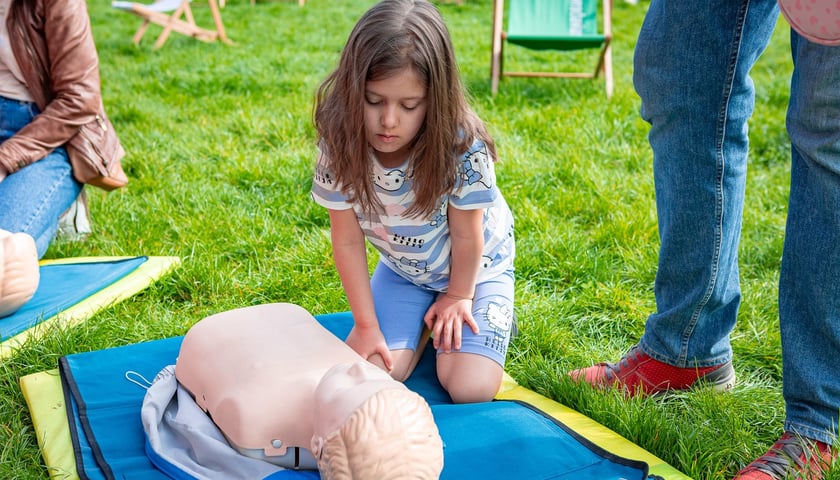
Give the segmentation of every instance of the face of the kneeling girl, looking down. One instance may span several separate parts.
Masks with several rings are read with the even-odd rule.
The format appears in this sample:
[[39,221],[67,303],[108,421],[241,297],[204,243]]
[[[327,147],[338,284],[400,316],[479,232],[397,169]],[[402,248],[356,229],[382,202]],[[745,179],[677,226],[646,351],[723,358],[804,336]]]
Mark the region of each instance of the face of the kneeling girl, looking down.
[[426,120],[426,87],[411,68],[365,84],[365,133],[385,167],[408,158],[417,132]]

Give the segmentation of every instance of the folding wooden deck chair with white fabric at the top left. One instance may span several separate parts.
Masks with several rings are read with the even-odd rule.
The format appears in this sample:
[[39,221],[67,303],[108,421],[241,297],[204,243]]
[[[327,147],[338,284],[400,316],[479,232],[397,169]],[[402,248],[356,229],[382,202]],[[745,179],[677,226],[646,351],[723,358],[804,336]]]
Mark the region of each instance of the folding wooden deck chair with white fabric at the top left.
[[[222,23],[222,15],[219,13],[219,6],[216,0],[207,0],[210,6],[210,11],[213,14],[213,21],[215,23],[215,30],[199,27],[195,23],[195,18],[190,8],[191,0],[156,0],[151,4],[143,4],[130,1],[113,1],[111,6],[119,10],[133,13],[143,19],[143,23],[137,32],[134,34],[132,41],[135,45],[140,44],[140,40],[146,33],[146,29],[150,23],[160,25],[163,31],[155,41],[155,49],[163,46],[169,34],[177,32],[183,35],[193,37],[202,42],[221,41],[223,43],[232,43],[225,33],[225,26]],[[184,17],[182,19],[181,17]]]

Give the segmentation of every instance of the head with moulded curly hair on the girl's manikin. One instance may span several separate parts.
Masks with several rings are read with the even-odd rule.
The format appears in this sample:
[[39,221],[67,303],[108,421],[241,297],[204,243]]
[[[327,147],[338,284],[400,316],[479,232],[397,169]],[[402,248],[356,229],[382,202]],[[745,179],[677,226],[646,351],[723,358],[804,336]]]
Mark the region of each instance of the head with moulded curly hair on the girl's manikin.
[[440,477],[443,442],[429,405],[369,362],[327,371],[314,417],[312,453],[325,479]]

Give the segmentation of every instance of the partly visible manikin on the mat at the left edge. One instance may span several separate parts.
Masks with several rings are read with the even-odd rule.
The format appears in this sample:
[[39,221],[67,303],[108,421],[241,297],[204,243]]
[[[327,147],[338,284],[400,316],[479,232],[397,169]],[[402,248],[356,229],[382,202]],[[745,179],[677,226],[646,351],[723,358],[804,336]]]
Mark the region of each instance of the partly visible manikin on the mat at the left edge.
[[39,280],[35,239],[26,233],[0,230],[0,318],[29,301]]

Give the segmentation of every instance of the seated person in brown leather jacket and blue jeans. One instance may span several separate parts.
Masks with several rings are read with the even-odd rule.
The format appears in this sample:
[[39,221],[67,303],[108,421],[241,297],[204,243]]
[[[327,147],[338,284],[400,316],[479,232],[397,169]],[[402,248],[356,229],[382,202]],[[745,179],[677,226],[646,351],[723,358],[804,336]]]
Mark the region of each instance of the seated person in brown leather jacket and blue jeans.
[[89,231],[84,184],[124,184],[124,153],[102,103],[87,3],[0,0],[0,229],[31,235],[38,258],[59,218]]

